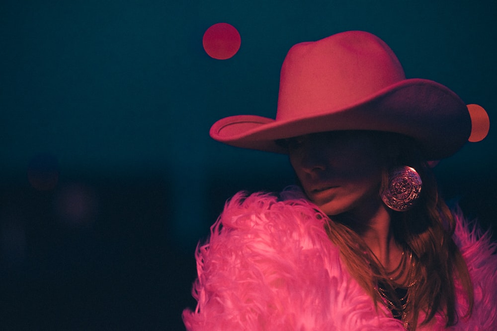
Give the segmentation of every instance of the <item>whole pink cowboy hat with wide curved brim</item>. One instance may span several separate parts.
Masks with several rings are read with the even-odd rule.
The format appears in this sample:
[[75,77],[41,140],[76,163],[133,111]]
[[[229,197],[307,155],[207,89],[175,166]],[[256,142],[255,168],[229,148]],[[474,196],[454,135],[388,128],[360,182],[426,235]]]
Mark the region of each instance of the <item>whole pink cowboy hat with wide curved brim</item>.
[[231,116],[210,130],[229,145],[285,153],[276,139],[313,132],[374,130],[412,136],[426,159],[455,153],[468,140],[466,104],[447,87],[406,79],[381,39],[348,31],[293,46],[281,68],[276,119]]

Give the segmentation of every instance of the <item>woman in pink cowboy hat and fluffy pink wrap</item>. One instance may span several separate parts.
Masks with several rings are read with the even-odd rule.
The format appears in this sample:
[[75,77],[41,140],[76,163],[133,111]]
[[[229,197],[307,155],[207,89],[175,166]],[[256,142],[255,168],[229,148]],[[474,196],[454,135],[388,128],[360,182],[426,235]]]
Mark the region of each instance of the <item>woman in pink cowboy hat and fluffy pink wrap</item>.
[[198,249],[188,330],[497,330],[497,259],[437,195],[428,160],[471,133],[447,87],[406,79],[360,31],[295,45],[276,119],[211,136],[287,153],[299,186],[237,194]]

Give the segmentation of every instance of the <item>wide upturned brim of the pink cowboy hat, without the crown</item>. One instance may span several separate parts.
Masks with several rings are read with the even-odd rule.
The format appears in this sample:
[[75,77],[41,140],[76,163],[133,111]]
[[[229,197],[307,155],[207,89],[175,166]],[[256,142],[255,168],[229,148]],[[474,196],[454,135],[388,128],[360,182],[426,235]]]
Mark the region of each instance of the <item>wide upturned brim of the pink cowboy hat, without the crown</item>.
[[215,140],[275,153],[286,149],[275,140],[338,130],[397,132],[414,137],[429,160],[454,154],[468,140],[471,118],[466,104],[449,88],[427,79],[405,79],[354,105],[326,114],[273,120],[237,115],[217,121]]

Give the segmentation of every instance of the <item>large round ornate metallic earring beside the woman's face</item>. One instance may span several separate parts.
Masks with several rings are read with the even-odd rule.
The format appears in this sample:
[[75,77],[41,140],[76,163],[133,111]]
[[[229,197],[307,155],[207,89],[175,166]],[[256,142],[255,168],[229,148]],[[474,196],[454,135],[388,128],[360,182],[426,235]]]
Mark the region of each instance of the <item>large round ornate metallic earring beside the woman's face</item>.
[[395,168],[388,174],[388,186],[381,193],[381,199],[390,209],[406,211],[414,206],[421,193],[421,187],[421,177],[414,168]]

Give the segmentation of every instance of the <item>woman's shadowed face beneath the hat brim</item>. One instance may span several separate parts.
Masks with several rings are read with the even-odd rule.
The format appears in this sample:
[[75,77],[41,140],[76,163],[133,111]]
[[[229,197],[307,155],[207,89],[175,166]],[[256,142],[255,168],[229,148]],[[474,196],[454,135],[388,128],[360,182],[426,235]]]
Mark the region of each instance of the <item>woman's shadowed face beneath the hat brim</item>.
[[327,215],[382,204],[384,158],[371,132],[337,131],[288,139],[290,163],[311,201]]

